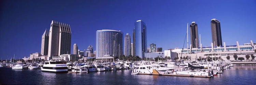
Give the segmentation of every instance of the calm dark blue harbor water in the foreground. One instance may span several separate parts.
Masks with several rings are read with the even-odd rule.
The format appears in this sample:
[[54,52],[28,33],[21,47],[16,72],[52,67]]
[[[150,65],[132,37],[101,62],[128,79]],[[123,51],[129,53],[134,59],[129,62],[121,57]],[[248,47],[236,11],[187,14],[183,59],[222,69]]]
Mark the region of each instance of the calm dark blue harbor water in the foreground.
[[115,85],[255,85],[256,65],[237,65],[213,78],[190,78],[158,75],[131,75],[132,70],[90,73],[46,73],[38,70],[12,70],[0,68],[0,84],[115,84]]

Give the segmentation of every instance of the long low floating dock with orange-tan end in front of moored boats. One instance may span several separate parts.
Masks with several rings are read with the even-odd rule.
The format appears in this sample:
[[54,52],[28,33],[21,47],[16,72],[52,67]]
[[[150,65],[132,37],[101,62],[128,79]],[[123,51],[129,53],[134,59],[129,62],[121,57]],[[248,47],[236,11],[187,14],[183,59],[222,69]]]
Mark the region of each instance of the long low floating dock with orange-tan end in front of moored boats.
[[166,75],[166,76],[176,76],[176,77],[199,77],[199,78],[211,78],[212,76],[204,76],[204,75],[184,75],[184,74],[160,74],[155,69],[153,73],[139,73],[142,75]]

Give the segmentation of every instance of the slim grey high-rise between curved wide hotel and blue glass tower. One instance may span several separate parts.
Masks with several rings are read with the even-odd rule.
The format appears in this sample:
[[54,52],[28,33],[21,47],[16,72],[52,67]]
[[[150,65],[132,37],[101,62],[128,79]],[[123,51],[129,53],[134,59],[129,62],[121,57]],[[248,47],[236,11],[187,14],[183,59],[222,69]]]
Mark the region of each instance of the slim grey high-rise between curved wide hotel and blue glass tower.
[[131,55],[131,36],[129,35],[129,33],[126,33],[124,41],[125,41],[124,55],[129,56],[129,55]]

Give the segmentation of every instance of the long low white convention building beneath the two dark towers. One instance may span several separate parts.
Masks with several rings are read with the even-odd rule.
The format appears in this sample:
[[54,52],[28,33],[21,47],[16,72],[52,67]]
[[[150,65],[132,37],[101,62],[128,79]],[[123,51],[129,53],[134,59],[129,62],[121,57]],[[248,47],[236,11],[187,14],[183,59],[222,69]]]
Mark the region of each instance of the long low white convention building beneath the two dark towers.
[[[191,45],[190,45],[191,47]],[[227,60],[227,56],[230,56],[230,60],[234,60],[233,55],[237,54],[238,57],[244,57],[245,55],[254,55],[256,56],[256,44],[253,43],[253,41],[251,40],[251,43],[247,43],[244,45],[239,45],[238,41],[237,41],[237,45],[232,45],[232,46],[226,46],[226,43],[224,42],[224,46],[213,46],[213,44],[211,44],[210,47],[202,47],[202,45],[200,45],[199,48],[188,48],[188,49],[174,49],[172,50],[172,52],[177,52],[179,57],[186,57],[189,56],[191,57],[191,60],[195,60],[196,57],[202,57],[205,58],[207,56],[210,57],[219,57],[221,56],[223,60]],[[251,60],[252,58],[250,57],[249,60]]]

